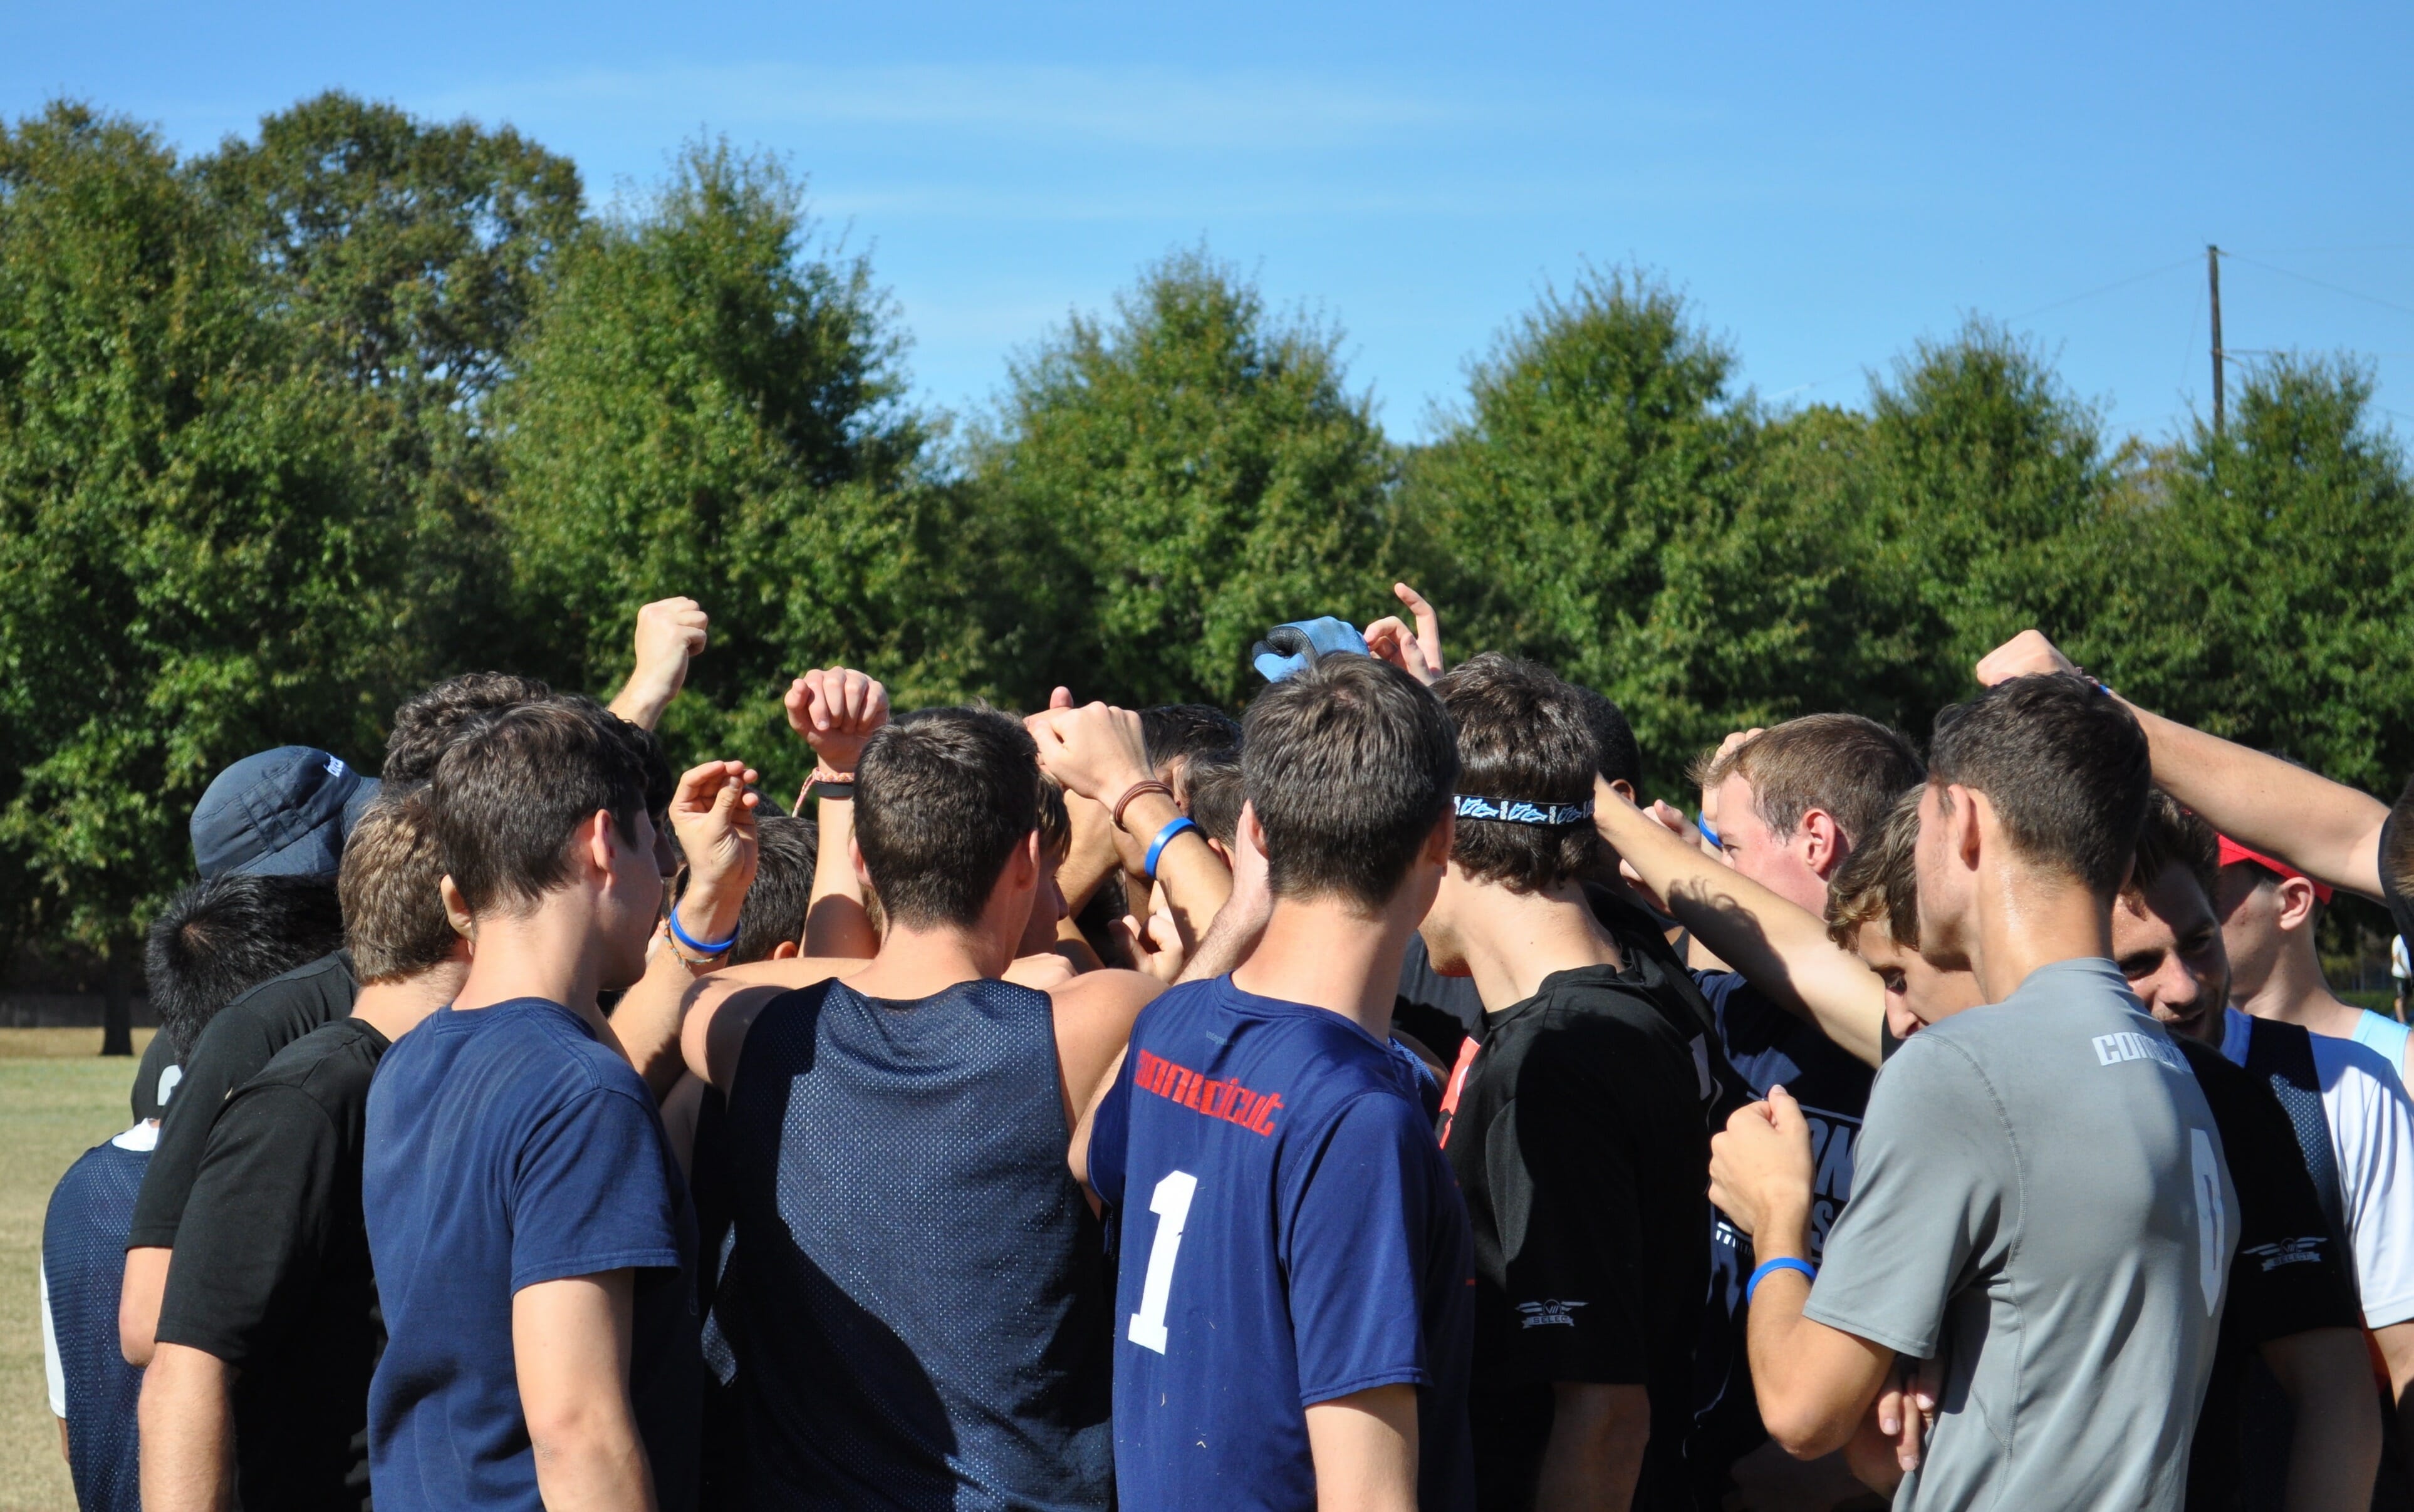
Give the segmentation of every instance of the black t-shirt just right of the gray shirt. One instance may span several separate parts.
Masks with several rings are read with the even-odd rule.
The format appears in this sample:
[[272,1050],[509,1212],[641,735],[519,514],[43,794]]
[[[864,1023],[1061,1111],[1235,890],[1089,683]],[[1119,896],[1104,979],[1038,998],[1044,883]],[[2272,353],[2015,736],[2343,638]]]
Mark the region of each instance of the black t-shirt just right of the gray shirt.
[[[2257,1350],[2310,1329],[2361,1329],[2349,1256],[2305,1174],[2288,1114],[2260,1078],[2189,1035],[2173,1035],[2187,1056],[2221,1131],[2238,1189],[2238,1252],[2231,1300],[2221,1309],[2214,1375],[2187,1461],[2189,1512],[2279,1505],[2288,1464],[2288,1425],[2269,1401],[2245,1408]],[[2284,1413],[2281,1413],[2284,1418]]]

